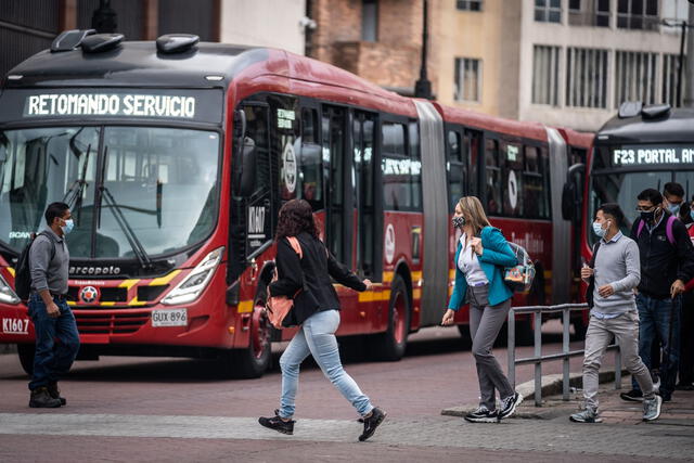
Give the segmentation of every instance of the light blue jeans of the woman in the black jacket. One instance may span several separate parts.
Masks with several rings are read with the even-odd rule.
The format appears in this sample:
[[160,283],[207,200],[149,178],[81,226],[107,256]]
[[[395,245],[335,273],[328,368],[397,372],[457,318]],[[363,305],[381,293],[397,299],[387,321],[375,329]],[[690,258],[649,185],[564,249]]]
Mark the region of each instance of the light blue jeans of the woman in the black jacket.
[[343,369],[335,332],[339,326],[339,311],[324,310],[309,317],[301,329],[292,338],[280,358],[282,368],[282,399],[280,416],[294,416],[294,399],[299,384],[299,366],[309,353],[323,371],[323,374],[337,387],[345,399],[357,409],[359,414],[367,415],[373,409],[371,401],[359,389],[355,380]]

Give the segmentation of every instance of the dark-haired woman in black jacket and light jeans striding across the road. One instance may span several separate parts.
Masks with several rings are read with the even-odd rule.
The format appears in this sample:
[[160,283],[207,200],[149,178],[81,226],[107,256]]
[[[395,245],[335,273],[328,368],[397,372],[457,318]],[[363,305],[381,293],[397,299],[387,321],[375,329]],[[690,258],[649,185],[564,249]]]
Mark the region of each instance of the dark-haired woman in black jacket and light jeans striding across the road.
[[[296,237],[301,257],[294,250],[288,237]],[[280,358],[282,369],[282,397],[280,409],[272,417],[258,422],[283,434],[294,433],[294,401],[301,362],[312,355],[323,374],[357,409],[363,420],[359,440],[367,440],[383,422],[386,413],[371,404],[371,400],[343,369],[335,332],[339,326],[339,299],[331,276],[355,291],[372,287],[371,281],[361,281],[345,266],[337,262],[318,235],[311,206],[304,200],[292,200],[282,206],[275,234],[278,243],[278,279],[269,286],[270,296],[294,299],[292,325],[300,329]],[[286,323],[285,323],[286,325]]]

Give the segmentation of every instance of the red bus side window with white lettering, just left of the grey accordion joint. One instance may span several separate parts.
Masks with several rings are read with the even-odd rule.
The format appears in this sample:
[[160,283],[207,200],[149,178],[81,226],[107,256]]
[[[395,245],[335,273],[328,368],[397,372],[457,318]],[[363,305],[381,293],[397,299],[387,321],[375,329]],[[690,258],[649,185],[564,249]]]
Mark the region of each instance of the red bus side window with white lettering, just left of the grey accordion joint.
[[404,144],[404,126],[384,123],[383,140],[383,198],[388,210],[410,210],[412,190],[410,188],[411,160]]

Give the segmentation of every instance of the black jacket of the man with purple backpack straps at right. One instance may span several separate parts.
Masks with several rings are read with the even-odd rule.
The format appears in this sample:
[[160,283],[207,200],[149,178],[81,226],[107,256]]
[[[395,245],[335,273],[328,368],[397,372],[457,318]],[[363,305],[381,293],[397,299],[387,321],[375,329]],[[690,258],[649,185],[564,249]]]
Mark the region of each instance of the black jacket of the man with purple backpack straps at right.
[[641,219],[634,220],[631,227],[631,239],[639,245],[641,256],[639,292],[657,299],[670,297],[670,286],[674,280],[682,280],[686,284],[694,278],[694,246],[686,227],[680,220],[672,223],[674,245],[670,244],[666,230],[670,213],[664,214],[653,232],[648,232],[644,224],[637,237]]

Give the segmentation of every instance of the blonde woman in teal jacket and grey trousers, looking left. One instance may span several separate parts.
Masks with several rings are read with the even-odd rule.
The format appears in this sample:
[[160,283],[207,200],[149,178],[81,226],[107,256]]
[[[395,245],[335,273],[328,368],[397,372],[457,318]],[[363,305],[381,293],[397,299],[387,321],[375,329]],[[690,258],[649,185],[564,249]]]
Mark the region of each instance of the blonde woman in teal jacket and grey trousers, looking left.
[[[455,250],[455,285],[441,324],[453,324],[455,312],[470,303],[470,333],[479,380],[479,408],[467,415],[471,423],[497,422],[511,416],[523,396],[513,390],[491,347],[509,317],[513,292],[503,281],[505,267],[517,263],[509,242],[491,227],[475,196],[462,197],[455,206],[453,227],[463,235]],[[496,390],[501,409],[497,410]]]

